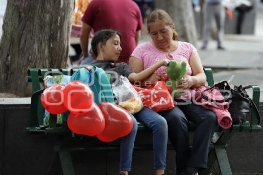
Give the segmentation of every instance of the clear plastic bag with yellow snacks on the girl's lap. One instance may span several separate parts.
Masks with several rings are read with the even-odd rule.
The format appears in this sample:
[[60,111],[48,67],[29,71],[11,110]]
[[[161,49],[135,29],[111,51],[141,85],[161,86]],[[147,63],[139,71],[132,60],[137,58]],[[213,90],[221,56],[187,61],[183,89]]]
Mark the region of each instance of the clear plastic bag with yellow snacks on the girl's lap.
[[112,90],[118,104],[130,113],[137,113],[143,108],[138,92],[126,77],[121,75],[117,82],[113,83]]

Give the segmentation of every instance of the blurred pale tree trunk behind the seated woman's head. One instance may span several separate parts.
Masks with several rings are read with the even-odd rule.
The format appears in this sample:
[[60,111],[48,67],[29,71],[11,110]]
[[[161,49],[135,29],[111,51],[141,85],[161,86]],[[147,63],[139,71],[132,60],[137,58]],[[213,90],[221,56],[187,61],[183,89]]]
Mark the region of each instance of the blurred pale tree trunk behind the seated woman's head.
[[196,46],[197,32],[191,0],[156,0],[155,5],[167,11],[174,19],[178,39]]

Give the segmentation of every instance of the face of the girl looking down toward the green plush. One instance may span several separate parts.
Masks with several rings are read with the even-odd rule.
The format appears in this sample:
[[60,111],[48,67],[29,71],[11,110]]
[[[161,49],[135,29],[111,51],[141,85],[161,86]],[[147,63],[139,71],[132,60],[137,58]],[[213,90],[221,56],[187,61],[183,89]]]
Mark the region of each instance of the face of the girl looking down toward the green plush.
[[122,51],[119,35],[111,36],[106,44],[102,44],[102,52],[104,60],[117,61]]

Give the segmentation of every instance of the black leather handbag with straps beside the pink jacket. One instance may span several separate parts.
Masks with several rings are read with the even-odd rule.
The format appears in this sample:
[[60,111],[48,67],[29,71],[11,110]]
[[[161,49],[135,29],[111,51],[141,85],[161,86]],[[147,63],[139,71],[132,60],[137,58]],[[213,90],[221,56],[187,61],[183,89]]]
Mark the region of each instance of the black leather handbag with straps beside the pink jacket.
[[[209,99],[204,94],[204,92],[209,90],[211,91],[212,88],[218,88],[224,99],[223,100]],[[231,114],[233,124],[240,124],[247,121],[247,117],[251,113],[253,106],[254,109],[256,109],[257,111],[258,125],[259,125],[260,114],[257,109],[257,106],[246,92],[246,89],[248,88],[252,88],[252,86],[242,87],[242,85],[240,85],[240,86],[234,86],[234,89],[232,89],[227,81],[222,81],[220,83],[214,84],[211,88],[202,91],[201,96],[203,99],[212,102],[217,102],[217,103],[222,103],[224,101],[228,102],[229,103],[228,111]]]

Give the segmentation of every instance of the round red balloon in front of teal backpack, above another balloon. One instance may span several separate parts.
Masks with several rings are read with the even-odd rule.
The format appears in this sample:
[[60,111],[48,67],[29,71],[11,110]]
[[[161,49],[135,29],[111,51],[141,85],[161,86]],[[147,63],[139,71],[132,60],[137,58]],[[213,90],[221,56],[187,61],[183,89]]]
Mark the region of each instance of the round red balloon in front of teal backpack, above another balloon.
[[71,81],[63,89],[64,105],[75,114],[84,114],[89,111],[93,104],[93,92],[82,81]]

